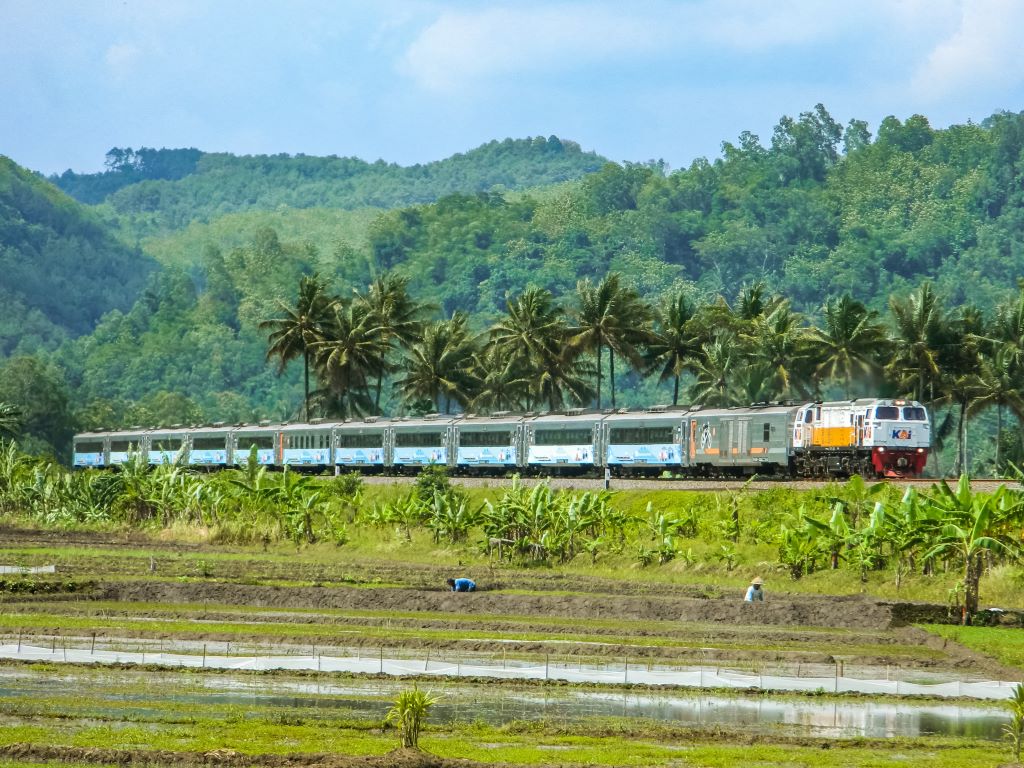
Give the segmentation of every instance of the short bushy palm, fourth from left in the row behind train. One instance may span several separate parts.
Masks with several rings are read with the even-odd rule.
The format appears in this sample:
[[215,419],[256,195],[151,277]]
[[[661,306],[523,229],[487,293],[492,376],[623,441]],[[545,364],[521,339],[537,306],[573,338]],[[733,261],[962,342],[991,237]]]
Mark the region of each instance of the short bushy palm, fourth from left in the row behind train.
[[469,401],[469,369],[475,349],[468,322],[465,312],[456,312],[452,319],[427,326],[423,338],[409,348],[406,375],[395,382],[408,402],[426,399],[438,411],[451,413],[453,399],[463,406]]

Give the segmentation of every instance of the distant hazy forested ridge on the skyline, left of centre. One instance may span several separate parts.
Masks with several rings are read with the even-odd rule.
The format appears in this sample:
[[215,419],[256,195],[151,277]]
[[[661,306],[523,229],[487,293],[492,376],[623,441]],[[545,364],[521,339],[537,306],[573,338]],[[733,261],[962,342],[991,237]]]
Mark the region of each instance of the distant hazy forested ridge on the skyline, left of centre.
[[136,232],[146,232],[248,209],[395,208],[457,191],[541,186],[580,178],[604,162],[556,136],[490,141],[410,167],[356,158],[143,147],[112,150],[103,173],[66,171],[51,181],[82,202],[105,202]]

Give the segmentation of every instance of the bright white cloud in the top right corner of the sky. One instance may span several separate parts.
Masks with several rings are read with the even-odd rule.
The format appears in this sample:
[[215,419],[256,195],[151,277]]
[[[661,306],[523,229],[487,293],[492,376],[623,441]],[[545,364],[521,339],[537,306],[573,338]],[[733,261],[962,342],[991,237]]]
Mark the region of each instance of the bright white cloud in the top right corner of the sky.
[[914,89],[941,98],[1019,85],[1024,82],[1022,29],[1024,3],[1019,0],[965,0],[959,25],[914,73]]

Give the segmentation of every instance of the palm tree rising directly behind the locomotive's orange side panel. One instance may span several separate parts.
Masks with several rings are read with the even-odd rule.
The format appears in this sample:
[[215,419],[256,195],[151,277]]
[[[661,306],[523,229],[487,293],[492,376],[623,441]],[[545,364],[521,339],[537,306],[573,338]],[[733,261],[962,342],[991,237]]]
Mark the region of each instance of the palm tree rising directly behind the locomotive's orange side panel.
[[821,311],[824,328],[812,329],[808,336],[811,356],[820,360],[814,373],[841,380],[849,399],[854,378],[872,379],[879,374],[889,337],[878,312],[849,294],[828,299]]

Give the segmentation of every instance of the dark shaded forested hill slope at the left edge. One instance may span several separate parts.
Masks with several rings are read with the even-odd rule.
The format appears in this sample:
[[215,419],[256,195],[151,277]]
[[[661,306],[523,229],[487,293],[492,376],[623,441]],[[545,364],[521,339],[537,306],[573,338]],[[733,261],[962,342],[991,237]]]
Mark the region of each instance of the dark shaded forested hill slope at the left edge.
[[0,357],[91,332],[131,307],[154,268],[92,211],[0,156]]

